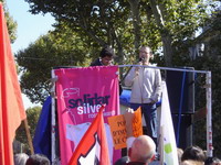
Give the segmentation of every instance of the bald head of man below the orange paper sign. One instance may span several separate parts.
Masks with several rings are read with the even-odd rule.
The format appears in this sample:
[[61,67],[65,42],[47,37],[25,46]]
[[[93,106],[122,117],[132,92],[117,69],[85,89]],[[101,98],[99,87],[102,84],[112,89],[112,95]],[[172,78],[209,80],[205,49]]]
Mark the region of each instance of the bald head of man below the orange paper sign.
[[155,158],[156,145],[148,135],[140,135],[135,139],[129,148],[128,156],[131,162],[149,163]]

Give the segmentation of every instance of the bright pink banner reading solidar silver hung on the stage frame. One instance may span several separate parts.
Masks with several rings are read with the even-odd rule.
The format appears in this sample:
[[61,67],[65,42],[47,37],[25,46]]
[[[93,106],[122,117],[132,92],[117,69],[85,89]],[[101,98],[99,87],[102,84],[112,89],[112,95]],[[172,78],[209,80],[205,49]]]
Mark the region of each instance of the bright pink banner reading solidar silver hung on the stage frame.
[[73,151],[98,113],[106,105],[103,114],[108,150],[112,162],[119,158],[119,151],[113,152],[107,118],[119,114],[118,67],[95,66],[84,68],[55,69],[60,153],[62,165],[66,165]]

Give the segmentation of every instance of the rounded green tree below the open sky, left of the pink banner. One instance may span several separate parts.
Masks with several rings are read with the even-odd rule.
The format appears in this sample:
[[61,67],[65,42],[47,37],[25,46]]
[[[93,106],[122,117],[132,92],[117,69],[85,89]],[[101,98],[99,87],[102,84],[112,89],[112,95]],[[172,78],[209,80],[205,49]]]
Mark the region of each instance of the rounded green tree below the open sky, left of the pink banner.
[[[88,47],[84,38],[65,26],[63,32],[40,36],[28,48],[15,54],[22,73],[21,88],[31,102],[41,102],[49,96],[51,70],[60,66],[88,66],[96,55],[96,44]],[[94,53],[93,55],[91,53]]]

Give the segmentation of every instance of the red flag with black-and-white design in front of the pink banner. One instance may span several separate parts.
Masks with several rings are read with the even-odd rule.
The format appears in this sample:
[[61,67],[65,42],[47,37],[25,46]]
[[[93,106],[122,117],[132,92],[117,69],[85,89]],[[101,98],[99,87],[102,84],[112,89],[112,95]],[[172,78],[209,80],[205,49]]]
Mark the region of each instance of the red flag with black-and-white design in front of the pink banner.
[[69,165],[110,165],[106,132],[101,107],[95,120],[82,138]]

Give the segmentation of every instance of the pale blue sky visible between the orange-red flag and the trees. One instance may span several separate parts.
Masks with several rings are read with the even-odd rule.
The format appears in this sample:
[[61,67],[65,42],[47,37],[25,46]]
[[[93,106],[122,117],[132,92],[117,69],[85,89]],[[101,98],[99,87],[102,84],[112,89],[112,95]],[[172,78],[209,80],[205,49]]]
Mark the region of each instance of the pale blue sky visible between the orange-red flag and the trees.
[[[29,3],[24,0],[7,0],[10,15],[18,23],[17,41],[11,45],[12,52],[27,48],[30,43],[44,35],[49,30],[53,30],[54,19],[50,14],[33,15],[29,12]],[[22,95],[25,109],[36,105],[32,105],[30,100]]]

